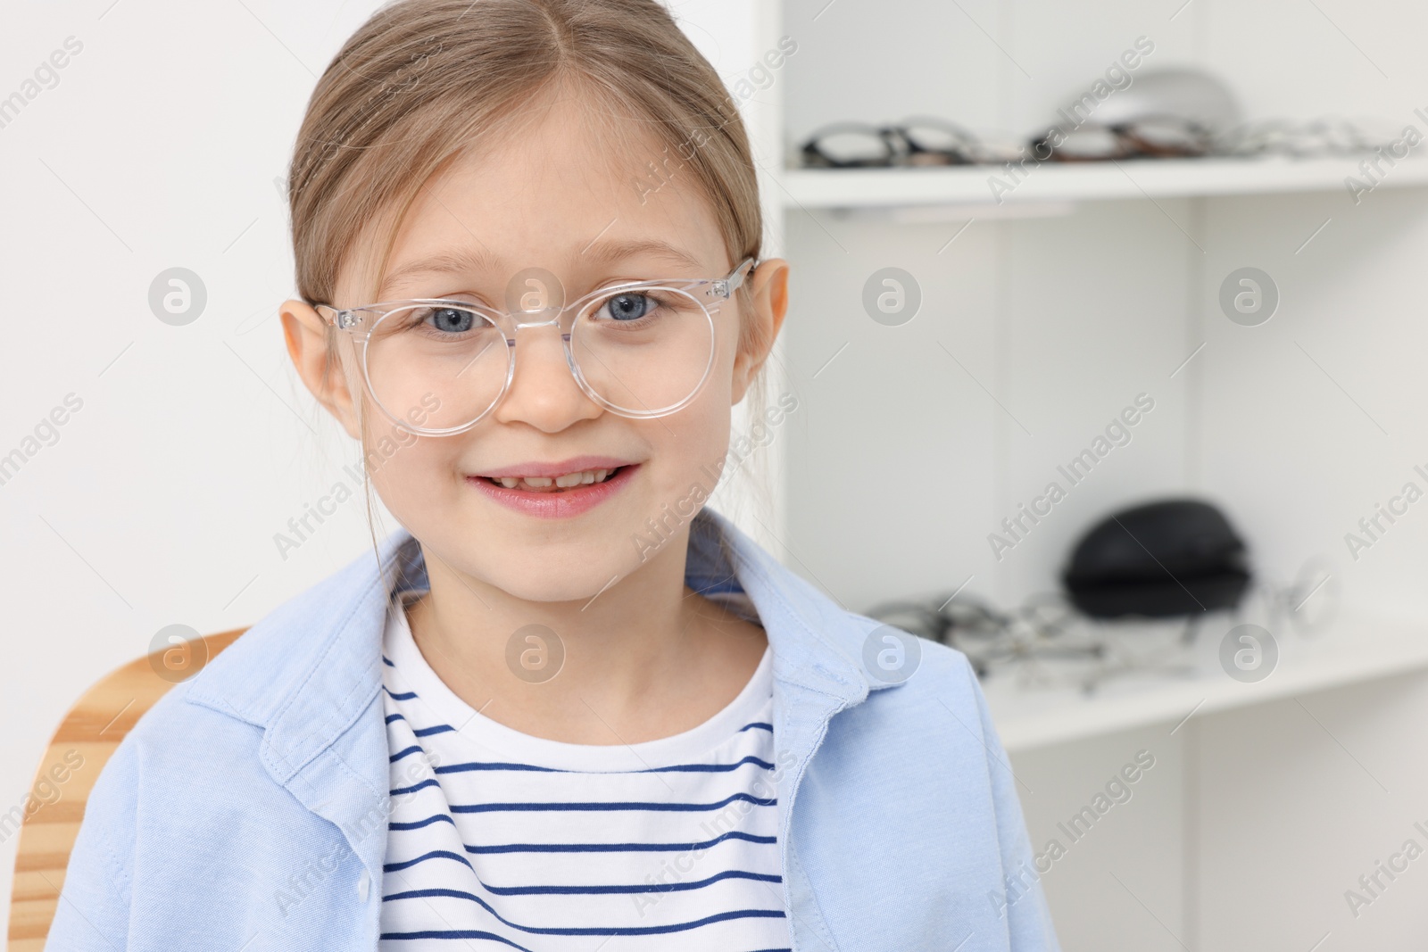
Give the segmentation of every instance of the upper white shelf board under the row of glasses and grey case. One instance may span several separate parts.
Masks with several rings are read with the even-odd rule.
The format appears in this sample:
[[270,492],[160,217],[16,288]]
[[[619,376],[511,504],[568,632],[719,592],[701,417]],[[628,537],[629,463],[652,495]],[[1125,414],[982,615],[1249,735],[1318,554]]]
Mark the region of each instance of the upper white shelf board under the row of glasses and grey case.
[[[1001,166],[942,168],[790,168],[777,178],[787,208],[868,208],[898,206],[1010,206],[1107,198],[1244,196],[1284,191],[1342,193],[1362,158],[1145,158],[1120,163],[1042,163],[1021,183],[992,194],[992,176],[1011,183]],[[1428,186],[1428,158],[1409,157],[1388,167],[1374,191]]]

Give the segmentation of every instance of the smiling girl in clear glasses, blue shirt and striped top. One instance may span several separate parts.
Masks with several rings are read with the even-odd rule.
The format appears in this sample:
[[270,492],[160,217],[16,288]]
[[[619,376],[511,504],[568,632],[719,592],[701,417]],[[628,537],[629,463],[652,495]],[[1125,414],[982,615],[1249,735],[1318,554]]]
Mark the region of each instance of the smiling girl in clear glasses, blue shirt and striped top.
[[657,0],[384,7],[290,201],[288,353],[401,530],[126,736],[47,949],[1057,948],[965,658],[703,508],[731,407],[797,412],[788,264]]

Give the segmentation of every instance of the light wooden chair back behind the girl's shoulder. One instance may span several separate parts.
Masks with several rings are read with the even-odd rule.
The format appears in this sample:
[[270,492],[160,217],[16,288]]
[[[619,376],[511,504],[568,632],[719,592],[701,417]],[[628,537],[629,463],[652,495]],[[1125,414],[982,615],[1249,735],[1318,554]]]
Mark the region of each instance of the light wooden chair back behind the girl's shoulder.
[[[247,629],[234,628],[204,635],[201,641],[206,651],[191,649],[188,654],[193,671],[187,677],[201,671],[203,665],[244,631]],[[36,784],[47,779],[59,788],[59,798],[26,814],[20,826],[20,851],[14,859],[14,886],[10,892],[9,952],[41,952],[44,948],[44,938],[50,933],[50,923],[59,908],[70,851],[79,836],[80,821],[84,819],[89,792],[124,735],[176,684],[159,674],[164,667],[166,651],[171,649],[160,649],[131,661],[86,691],[50,739]],[[76,761],[71,752],[84,758],[83,765],[74,771],[70,771]],[[70,754],[69,761],[66,754]],[[51,769],[60,772],[51,774]],[[54,782],[59,776],[66,779]],[[0,815],[0,829],[13,834],[4,815]]]

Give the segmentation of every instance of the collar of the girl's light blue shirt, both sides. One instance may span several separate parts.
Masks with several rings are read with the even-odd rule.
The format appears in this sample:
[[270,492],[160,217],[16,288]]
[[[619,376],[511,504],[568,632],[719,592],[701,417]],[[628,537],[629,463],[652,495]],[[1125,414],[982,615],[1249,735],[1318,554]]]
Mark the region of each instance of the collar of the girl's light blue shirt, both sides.
[[[888,687],[861,662],[877,622],[843,611],[710,508],[690,524],[685,584],[748,595],[768,634],[775,682],[840,709]],[[250,628],[188,682],[187,698],[263,726],[266,765],[286,784],[368,708],[381,688],[388,601],[426,587],[421,548],[398,530]]]

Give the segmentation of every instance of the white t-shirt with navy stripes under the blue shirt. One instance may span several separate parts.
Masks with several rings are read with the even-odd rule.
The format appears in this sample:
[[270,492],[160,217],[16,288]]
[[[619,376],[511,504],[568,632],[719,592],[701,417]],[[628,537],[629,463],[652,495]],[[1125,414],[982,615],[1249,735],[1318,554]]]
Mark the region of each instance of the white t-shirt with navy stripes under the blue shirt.
[[388,612],[383,662],[384,952],[790,948],[768,649],[713,718],[633,745],[478,714],[426,662],[404,611]]

